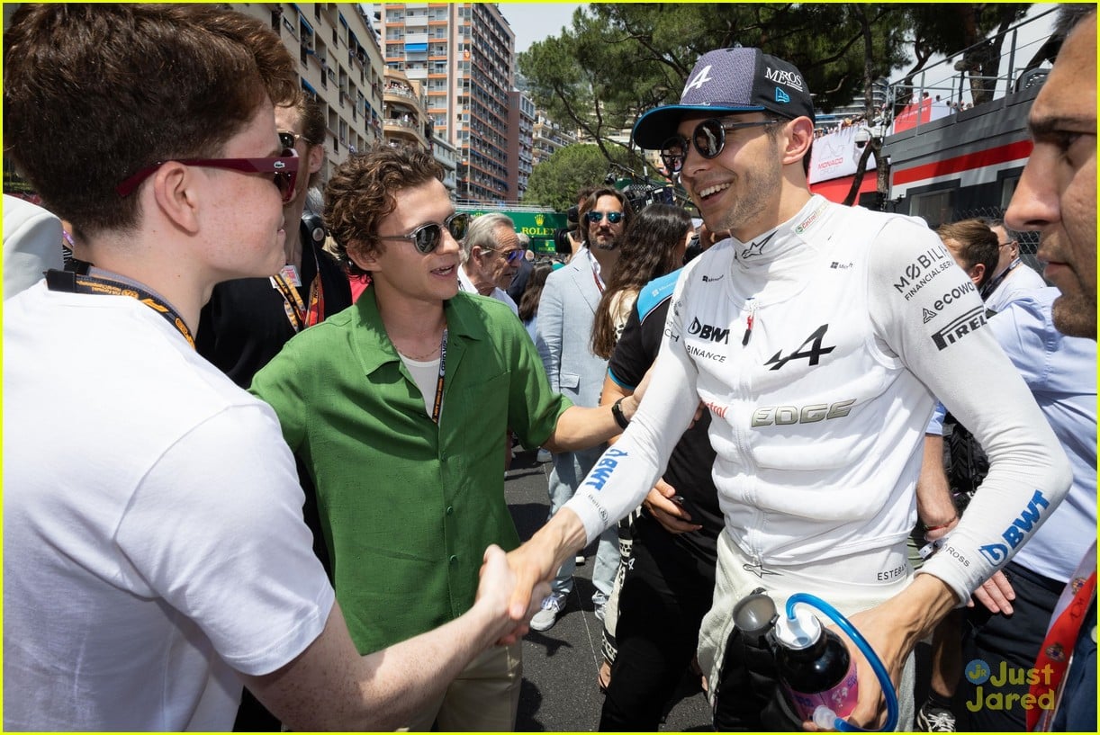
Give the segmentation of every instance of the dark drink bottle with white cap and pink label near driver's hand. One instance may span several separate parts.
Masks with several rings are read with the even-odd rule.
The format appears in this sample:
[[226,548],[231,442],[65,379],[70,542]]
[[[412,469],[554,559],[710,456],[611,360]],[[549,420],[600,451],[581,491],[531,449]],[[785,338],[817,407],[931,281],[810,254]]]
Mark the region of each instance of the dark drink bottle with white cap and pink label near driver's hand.
[[805,609],[793,619],[780,615],[772,635],[779,678],[796,715],[813,720],[825,706],[843,719],[856,709],[856,662],[840,636]]

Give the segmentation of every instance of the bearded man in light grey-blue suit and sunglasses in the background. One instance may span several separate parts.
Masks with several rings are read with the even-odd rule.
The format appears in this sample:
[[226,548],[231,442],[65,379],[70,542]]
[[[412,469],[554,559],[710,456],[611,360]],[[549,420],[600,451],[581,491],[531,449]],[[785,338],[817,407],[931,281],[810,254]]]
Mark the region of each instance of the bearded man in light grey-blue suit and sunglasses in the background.
[[[619,191],[610,188],[593,191],[584,200],[580,212],[584,246],[569,265],[550,274],[539,301],[535,344],[550,386],[576,405],[600,405],[607,360],[593,355],[588,346],[592,323],[604,283],[610,279],[618,261],[619,237],[632,214],[630,202]],[[604,448],[598,446],[553,456],[549,487],[551,517],[573,497]],[[566,561],[558,570],[550,594],[531,620],[532,630],[548,631],[558,621],[573,589],[575,566],[575,561]],[[604,603],[612,593],[617,567],[618,538],[612,527],[600,538],[596,566],[592,572],[596,588],[592,602],[601,619]]]

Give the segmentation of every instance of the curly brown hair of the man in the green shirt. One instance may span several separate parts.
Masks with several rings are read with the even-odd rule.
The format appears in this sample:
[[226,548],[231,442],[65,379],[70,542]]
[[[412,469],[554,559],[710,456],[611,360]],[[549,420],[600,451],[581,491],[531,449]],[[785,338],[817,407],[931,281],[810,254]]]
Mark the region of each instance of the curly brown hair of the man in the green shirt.
[[324,187],[324,224],[332,235],[337,259],[352,276],[365,276],[348,256],[382,253],[378,223],[397,208],[396,194],[428,181],[443,180],[443,167],[432,155],[415,146],[380,144],[361,156],[352,156],[332,174]]

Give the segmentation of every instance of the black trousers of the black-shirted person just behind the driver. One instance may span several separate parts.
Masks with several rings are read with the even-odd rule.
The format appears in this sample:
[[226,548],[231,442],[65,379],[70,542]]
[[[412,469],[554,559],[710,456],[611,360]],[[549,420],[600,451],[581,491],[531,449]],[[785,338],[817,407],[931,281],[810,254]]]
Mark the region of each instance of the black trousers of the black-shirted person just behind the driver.
[[716,558],[674,543],[642,513],[634,526],[631,564],[619,590],[618,655],[600,730],[656,731],[698,646],[714,597]]

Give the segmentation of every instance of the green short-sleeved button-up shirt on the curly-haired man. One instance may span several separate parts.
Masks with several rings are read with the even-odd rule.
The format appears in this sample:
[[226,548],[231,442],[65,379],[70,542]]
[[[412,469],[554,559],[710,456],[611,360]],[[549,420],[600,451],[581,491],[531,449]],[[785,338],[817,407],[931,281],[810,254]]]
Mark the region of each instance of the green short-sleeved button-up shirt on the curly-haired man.
[[256,374],[317,487],[337,599],[361,654],[470,609],[490,544],[519,544],[504,500],[505,432],[541,445],[570,407],[498,301],[446,302],[437,426],[397,356],[373,288],[295,336]]

